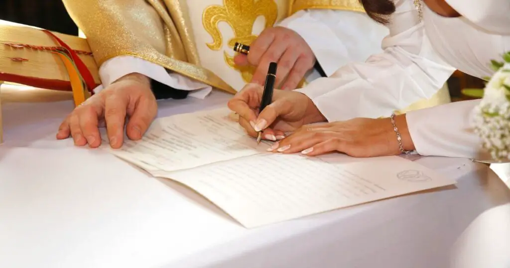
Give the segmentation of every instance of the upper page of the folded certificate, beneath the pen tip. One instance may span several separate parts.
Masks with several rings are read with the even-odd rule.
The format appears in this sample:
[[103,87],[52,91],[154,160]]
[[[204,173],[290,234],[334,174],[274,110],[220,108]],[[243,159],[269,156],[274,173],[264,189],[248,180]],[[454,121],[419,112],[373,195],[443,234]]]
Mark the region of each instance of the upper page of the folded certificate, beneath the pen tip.
[[[107,144],[107,135],[101,135]],[[149,170],[174,171],[266,152],[225,109],[158,118],[141,141],[125,140],[112,152]]]

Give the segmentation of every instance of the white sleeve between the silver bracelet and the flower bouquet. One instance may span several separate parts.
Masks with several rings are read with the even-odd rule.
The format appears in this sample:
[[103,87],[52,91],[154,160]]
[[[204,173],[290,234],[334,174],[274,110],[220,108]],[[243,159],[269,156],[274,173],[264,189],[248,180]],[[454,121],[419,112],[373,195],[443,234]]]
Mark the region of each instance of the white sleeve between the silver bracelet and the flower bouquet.
[[490,160],[472,125],[473,109],[479,102],[455,102],[407,112],[407,128],[416,152],[423,156]]

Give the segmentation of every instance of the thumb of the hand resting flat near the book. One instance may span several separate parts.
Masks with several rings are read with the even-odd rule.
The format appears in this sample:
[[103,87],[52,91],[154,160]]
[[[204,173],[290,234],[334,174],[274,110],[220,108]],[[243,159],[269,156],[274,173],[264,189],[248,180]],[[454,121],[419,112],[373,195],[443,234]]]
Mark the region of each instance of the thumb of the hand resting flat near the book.
[[132,140],[139,140],[156,117],[158,104],[143,99],[138,102],[126,126],[126,134]]

